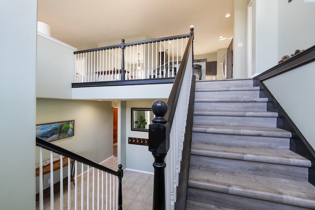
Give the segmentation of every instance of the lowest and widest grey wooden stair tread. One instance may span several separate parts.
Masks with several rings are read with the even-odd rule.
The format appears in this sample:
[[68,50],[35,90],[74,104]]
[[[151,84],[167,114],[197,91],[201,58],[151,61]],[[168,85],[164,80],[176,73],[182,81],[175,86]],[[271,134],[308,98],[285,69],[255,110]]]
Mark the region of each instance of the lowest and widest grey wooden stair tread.
[[314,186],[306,181],[192,169],[189,187],[315,209]]

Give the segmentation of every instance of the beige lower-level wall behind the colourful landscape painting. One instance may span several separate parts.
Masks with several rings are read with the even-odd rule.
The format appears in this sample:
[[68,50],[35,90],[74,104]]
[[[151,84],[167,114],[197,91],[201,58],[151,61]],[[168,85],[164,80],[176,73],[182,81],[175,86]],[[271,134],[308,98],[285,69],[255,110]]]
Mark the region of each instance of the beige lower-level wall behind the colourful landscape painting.
[[74,120],[74,136],[51,143],[99,163],[113,155],[111,105],[110,101],[37,98],[36,124]]

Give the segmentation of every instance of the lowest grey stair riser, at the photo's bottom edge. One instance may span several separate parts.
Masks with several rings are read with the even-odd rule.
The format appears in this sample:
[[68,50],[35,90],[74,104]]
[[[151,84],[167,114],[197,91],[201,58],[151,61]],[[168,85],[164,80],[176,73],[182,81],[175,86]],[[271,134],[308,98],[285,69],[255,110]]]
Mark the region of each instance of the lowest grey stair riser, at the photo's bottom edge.
[[[288,206],[280,203],[273,203],[260,199],[237,196],[226,192],[209,191],[199,188],[192,188],[189,184],[187,200],[207,203],[221,208],[232,210],[306,210],[300,207]],[[218,208],[219,209],[219,208]]]

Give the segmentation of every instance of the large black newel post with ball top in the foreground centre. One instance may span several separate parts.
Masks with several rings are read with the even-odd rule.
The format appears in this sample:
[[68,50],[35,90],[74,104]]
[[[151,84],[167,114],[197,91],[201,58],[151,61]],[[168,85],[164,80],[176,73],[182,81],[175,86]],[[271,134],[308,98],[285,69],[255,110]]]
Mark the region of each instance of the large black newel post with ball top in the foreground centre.
[[152,104],[152,111],[156,115],[149,125],[149,151],[154,156],[153,210],[165,210],[164,158],[169,149],[169,126],[164,118],[167,104],[157,100]]

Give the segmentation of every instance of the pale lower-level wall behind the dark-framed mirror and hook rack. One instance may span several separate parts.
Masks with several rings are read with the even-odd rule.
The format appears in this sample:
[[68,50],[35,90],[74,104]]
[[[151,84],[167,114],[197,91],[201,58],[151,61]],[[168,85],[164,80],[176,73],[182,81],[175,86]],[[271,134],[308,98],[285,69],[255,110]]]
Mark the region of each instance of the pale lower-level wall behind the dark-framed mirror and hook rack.
[[[126,168],[154,172],[154,157],[148,146],[128,144],[128,137],[149,138],[149,132],[131,130],[131,107],[151,108],[155,100],[127,101],[126,103]],[[122,139],[123,140],[123,139]]]

